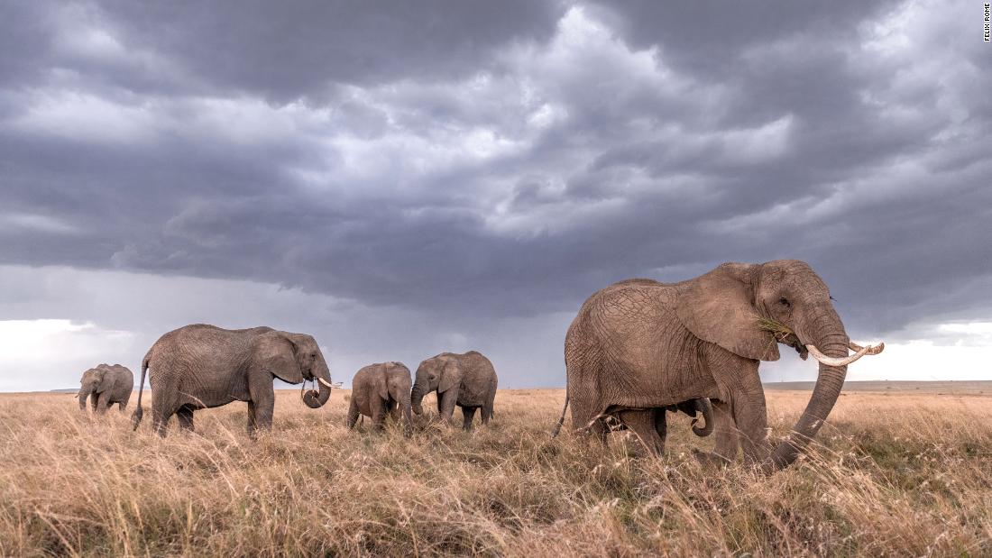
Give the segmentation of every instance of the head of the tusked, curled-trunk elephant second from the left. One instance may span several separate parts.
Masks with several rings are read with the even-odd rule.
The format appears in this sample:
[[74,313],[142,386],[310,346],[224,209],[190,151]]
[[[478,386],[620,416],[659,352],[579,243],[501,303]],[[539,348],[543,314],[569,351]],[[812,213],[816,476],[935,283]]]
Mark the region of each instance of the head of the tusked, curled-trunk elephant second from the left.
[[307,391],[304,402],[319,408],[330,397],[330,369],[310,335],[270,331],[252,342],[252,358],[270,374],[290,384],[313,381],[320,391]]

